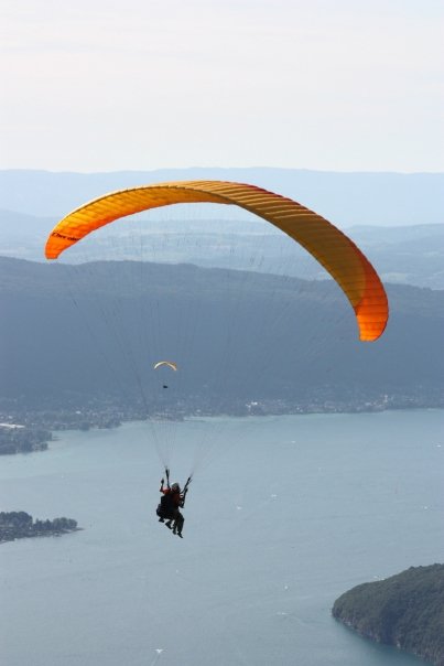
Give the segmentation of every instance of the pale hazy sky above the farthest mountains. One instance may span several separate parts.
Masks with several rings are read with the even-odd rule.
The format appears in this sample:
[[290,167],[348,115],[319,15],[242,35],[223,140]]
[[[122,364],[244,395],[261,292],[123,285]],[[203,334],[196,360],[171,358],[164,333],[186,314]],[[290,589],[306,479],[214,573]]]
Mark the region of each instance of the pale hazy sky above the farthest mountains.
[[1,0],[1,169],[444,171],[442,0]]

